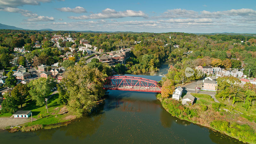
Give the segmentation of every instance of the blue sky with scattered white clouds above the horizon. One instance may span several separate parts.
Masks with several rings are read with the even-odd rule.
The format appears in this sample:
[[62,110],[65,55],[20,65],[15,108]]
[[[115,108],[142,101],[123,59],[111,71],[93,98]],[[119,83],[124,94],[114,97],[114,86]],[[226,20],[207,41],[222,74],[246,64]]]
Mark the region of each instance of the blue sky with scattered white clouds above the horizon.
[[24,29],[256,33],[256,0],[0,0],[0,23]]

